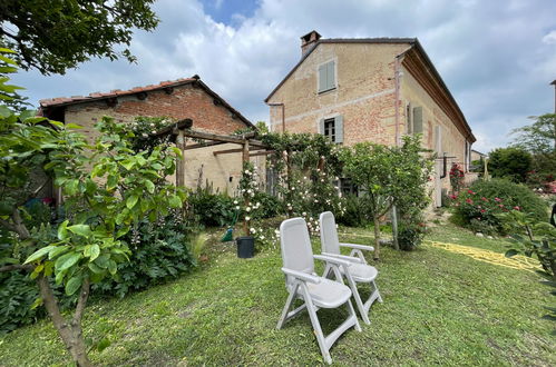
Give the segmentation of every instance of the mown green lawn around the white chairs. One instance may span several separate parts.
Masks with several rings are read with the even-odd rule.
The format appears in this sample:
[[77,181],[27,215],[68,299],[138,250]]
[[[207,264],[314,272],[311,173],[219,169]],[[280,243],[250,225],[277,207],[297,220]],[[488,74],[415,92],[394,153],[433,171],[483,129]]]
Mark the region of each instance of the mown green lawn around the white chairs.
[[[364,229],[340,231],[341,239],[361,244],[372,236]],[[554,324],[540,319],[552,299],[530,268],[506,266],[500,240],[451,225],[437,227],[428,240],[412,252],[383,249],[375,266],[384,302],[373,305],[372,324],[361,324],[363,333],[350,329],[338,340],[331,350],[334,364],[556,365]],[[206,251],[208,262],[191,275],[125,299],[94,301],[85,333],[94,339],[106,336],[111,345],[91,351],[92,361],[322,364],[306,314],[275,329],[286,298],[279,249],[248,260],[237,259],[232,245],[214,241]],[[345,311],[319,315],[330,331]],[[68,363],[47,320],[2,337],[0,355],[3,366]]]

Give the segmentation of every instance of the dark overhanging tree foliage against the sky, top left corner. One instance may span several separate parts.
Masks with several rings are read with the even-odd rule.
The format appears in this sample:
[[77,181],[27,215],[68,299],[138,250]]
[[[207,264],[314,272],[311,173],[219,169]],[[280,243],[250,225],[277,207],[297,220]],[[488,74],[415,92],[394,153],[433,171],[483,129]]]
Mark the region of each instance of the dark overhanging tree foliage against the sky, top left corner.
[[158,24],[154,1],[2,0],[0,43],[18,52],[25,70],[43,75],[65,73],[91,57],[135,61],[128,48],[134,30]]

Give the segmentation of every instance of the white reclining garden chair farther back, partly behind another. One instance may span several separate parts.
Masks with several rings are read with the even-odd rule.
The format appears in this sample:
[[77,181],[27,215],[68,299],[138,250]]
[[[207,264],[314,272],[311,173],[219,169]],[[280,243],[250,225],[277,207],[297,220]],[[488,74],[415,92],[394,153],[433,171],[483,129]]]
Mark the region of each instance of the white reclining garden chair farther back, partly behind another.
[[[322,255],[335,257],[351,262],[349,271],[343,271],[343,268],[341,268],[340,271],[342,271],[342,274],[348,279],[348,284],[351,288],[351,291],[353,292],[355,304],[358,305],[359,313],[361,314],[363,321],[365,324],[371,324],[371,321],[369,320],[369,309],[371,308],[371,305],[374,302],[374,300],[378,299],[379,302],[382,302],[382,297],[380,297],[379,288],[374,282],[374,279],[377,279],[379,272],[377,268],[367,264],[367,260],[364,259],[363,252],[361,252],[361,250],[374,251],[374,247],[355,244],[341,244],[338,239],[334,215],[330,211],[321,214],[320,228]],[[349,256],[341,255],[340,247],[351,248],[351,254]],[[326,265],[323,277],[328,278],[331,270],[331,267]],[[364,304],[359,296],[357,286],[358,282],[369,282],[371,285],[371,296]]]

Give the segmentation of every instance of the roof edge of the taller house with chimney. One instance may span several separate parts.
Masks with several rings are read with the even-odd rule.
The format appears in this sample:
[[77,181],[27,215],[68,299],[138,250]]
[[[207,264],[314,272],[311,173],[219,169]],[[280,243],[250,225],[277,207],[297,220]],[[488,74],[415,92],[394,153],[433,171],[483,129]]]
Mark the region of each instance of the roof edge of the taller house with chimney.
[[[421,43],[417,38],[388,38],[388,37],[382,37],[382,38],[329,38],[329,39],[319,39],[301,58],[301,60],[293,67],[293,69],[282,79],[282,81],[272,90],[272,92],[266,97],[264,100],[265,103],[269,102],[269,100],[272,98],[272,96],[282,87],[282,85],[295,72],[295,70],[305,61],[305,59],[319,47],[321,43],[408,43],[410,46],[409,50],[406,50],[403,53],[409,52],[410,50],[414,50],[419,54],[422,56],[425,59],[427,66],[430,68],[432,71],[435,78],[439,81],[441,88],[450,99],[450,101],[456,106],[458,115],[461,117],[461,120],[464,122],[465,129],[468,132],[469,138],[471,138],[472,141],[476,141],[477,139],[471,132],[471,128],[467,123],[467,120],[464,116],[464,112],[461,112],[458,103],[456,102],[456,99],[451,95],[450,90],[443,82],[442,78],[440,77],[440,73],[438,72],[437,68],[430,60],[429,56],[427,52],[425,52],[425,49],[422,48]],[[555,80],[556,82],[556,80]]]

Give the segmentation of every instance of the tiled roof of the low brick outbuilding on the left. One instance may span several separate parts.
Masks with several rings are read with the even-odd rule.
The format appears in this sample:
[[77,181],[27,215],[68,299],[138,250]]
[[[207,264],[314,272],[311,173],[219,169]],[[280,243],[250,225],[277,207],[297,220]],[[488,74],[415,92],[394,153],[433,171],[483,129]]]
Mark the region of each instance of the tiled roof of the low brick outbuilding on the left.
[[208,88],[208,86],[205,85],[201,80],[201,78],[196,75],[191,77],[191,78],[166,80],[166,81],[162,81],[157,85],[149,85],[149,86],[145,86],[145,87],[134,87],[134,88],[128,89],[128,90],[114,89],[114,90],[110,90],[109,92],[92,92],[92,93],[89,93],[88,96],[71,96],[71,97],[58,97],[58,98],[50,98],[50,99],[41,99],[39,101],[39,103],[40,103],[40,110],[46,110],[49,108],[66,107],[69,105],[77,105],[77,103],[87,103],[87,102],[92,102],[92,101],[110,99],[110,98],[115,98],[115,97],[133,96],[133,95],[144,93],[144,92],[154,91],[154,90],[185,86],[185,85],[189,85],[189,83],[195,83],[196,86],[201,87],[203,90],[205,90],[206,93],[208,93],[214,99],[218,100],[218,102],[221,102],[222,106],[224,106],[232,113],[237,116],[237,118],[240,120],[242,120],[246,126],[254,127],[254,125],[247,118],[245,118],[242,113],[240,113],[240,111],[237,111],[235,108],[233,108],[228,102],[226,102],[215,91],[213,91],[211,88]]

